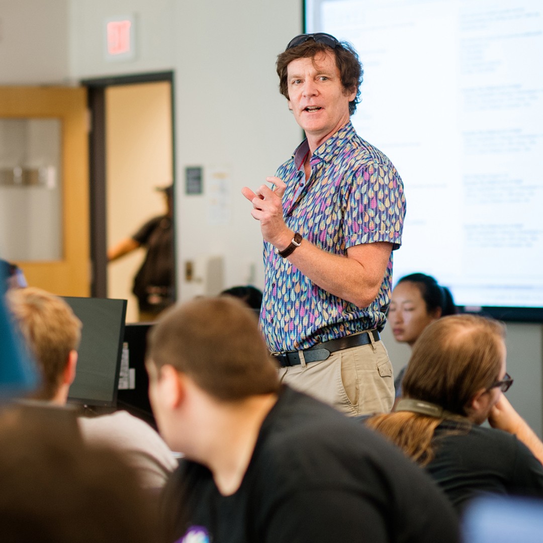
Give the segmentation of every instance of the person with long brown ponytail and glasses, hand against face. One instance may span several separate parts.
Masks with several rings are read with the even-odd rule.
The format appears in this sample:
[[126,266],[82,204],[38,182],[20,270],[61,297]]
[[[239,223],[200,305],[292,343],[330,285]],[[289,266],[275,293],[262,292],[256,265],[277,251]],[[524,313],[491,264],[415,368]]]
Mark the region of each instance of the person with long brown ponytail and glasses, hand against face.
[[424,466],[459,513],[488,493],[543,497],[543,443],[504,396],[513,383],[504,336],[477,315],[428,325],[395,411],[365,422]]

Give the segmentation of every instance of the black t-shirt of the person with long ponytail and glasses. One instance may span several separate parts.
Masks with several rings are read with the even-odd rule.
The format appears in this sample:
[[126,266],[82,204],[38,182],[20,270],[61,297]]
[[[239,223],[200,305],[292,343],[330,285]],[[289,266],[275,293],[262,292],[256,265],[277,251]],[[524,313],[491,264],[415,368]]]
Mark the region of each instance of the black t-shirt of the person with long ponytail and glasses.
[[543,466],[515,435],[443,421],[435,430],[435,457],[426,466],[453,506],[462,512],[481,494],[543,497]]

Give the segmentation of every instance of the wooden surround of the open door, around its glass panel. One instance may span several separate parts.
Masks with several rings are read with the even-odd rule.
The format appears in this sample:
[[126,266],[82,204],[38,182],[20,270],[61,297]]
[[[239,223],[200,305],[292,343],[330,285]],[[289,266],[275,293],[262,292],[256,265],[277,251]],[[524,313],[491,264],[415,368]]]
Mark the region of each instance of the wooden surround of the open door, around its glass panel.
[[[58,119],[61,149],[59,254],[51,259],[29,258],[15,262],[23,269],[29,286],[40,287],[59,295],[89,296],[89,146],[86,89],[0,87],[0,118]],[[20,225],[24,225],[27,219],[28,213],[27,216],[25,213],[17,214]],[[0,223],[1,221],[2,217]],[[18,227],[17,224],[0,224],[0,228],[12,229],[14,232]],[[33,230],[36,228],[33,227]],[[37,234],[48,236],[50,232],[47,231],[47,226],[44,226],[43,232],[33,232],[34,237]],[[9,254],[1,256],[10,260]]]

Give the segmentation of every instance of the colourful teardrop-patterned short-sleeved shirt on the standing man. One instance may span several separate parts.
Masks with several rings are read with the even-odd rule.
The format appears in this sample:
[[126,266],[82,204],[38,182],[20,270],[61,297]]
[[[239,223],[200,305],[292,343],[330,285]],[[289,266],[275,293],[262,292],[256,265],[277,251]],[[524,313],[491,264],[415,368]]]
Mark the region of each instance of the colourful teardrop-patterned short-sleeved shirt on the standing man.
[[[306,180],[307,140],[277,170],[285,181],[285,223],[320,249],[347,254],[354,245],[401,244],[405,197],[392,162],[349,122],[315,149]],[[392,290],[392,254],[377,298],[357,307],[319,288],[264,242],[266,286],[260,324],[274,352],[307,349],[362,330],[381,330]]]

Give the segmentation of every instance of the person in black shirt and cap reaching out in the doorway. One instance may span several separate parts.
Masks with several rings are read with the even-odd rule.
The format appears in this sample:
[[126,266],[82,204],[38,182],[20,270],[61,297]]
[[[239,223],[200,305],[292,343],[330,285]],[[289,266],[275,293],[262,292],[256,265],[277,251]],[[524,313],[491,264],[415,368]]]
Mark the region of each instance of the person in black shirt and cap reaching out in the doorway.
[[133,236],[122,239],[108,250],[108,262],[140,247],[147,250],[132,288],[138,300],[140,321],[155,320],[175,301],[173,185],[157,190],[165,194],[166,214],[148,220]]

